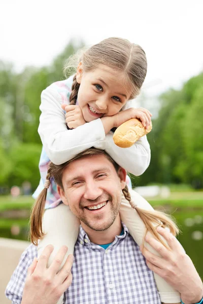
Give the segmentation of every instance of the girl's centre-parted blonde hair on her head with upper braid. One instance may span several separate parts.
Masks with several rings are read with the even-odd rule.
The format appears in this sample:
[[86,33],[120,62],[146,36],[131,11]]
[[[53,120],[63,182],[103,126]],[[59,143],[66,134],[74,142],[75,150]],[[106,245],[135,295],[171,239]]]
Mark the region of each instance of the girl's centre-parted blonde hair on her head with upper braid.
[[[147,73],[144,50],[139,45],[117,37],[105,39],[71,56],[64,65],[64,75],[67,77],[70,70],[76,72],[80,61],[85,71],[94,70],[99,64],[103,64],[124,74],[124,80],[132,92],[129,99],[135,98],[140,93]],[[79,87],[80,84],[77,83],[74,75],[70,104],[76,104]]]

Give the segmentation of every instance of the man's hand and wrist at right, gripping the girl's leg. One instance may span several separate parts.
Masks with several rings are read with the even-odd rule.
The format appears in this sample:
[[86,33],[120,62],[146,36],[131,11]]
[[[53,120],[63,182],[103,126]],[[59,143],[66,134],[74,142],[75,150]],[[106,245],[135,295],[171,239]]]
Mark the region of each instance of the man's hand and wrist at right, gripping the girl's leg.
[[203,295],[203,285],[192,260],[169,231],[158,227],[157,232],[167,241],[171,250],[147,235],[146,242],[162,256],[158,257],[144,248],[143,255],[148,267],[178,290],[185,304],[199,302]]

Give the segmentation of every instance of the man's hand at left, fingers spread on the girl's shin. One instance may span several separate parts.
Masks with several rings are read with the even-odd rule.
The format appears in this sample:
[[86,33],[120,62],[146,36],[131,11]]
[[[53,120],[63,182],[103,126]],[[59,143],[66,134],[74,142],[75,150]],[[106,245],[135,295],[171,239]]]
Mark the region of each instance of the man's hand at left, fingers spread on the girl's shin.
[[50,267],[47,268],[52,251],[52,245],[45,247],[39,260],[35,258],[28,268],[21,304],[56,304],[71,285],[73,254],[67,257],[62,269],[58,272],[67,247],[60,248]]

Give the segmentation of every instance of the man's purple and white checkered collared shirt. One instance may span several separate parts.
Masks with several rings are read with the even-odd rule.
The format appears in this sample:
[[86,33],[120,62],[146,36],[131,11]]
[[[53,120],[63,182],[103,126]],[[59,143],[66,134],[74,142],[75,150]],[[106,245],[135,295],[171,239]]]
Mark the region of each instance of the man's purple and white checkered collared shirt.
[[[64,304],[160,304],[152,271],[139,246],[129,235],[116,236],[105,250],[90,242],[85,231],[75,245],[73,282],[64,293]],[[24,251],[6,289],[12,304],[20,304],[27,268],[37,256],[32,244]]]

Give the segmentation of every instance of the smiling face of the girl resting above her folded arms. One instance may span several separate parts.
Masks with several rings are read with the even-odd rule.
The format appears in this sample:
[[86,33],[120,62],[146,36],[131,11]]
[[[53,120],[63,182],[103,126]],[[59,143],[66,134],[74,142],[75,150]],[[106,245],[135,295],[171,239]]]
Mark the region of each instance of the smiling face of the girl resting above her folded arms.
[[105,65],[85,72],[80,63],[76,80],[80,84],[78,103],[86,122],[115,115],[131,95],[122,75]]

